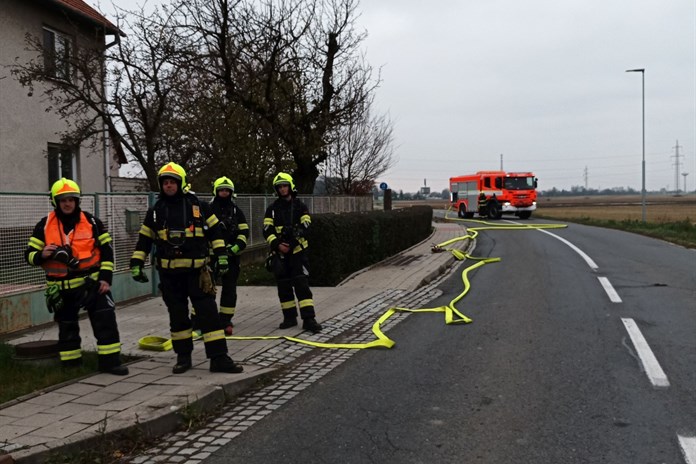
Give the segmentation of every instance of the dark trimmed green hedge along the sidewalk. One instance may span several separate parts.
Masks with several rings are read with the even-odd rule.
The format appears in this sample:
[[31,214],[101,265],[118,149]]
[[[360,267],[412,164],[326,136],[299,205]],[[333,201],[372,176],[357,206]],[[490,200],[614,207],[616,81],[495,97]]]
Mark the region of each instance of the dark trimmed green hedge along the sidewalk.
[[337,285],[353,272],[425,240],[432,219],[430,206],[312,216],[310,285]]

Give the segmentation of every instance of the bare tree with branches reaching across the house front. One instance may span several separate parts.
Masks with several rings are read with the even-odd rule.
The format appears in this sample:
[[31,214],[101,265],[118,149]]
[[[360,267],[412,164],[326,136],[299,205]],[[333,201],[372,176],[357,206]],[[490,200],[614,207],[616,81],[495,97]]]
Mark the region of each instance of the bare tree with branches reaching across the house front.
[[[36,58],[11,66],[22,85],[43,89],[47,111],[69,123],[60,134],[64,143],[96,143],[95,135],[108,134],[117,150],[140,164],[152,189],[158,189],[157,167],[172,155],[164,140],[174,116],[170,102],[186,82],[185,70],[174,59],[181,38],[168,27],[170,20],[160,11],[122,12],[117,24],[129,31],[128,39],[117,37],[106,49],[77,47],[68,58],[69,79],[56,79],[45,66],[40,37],[26,38]],[[79,28],[74,31],[77,44],[90,43]]]

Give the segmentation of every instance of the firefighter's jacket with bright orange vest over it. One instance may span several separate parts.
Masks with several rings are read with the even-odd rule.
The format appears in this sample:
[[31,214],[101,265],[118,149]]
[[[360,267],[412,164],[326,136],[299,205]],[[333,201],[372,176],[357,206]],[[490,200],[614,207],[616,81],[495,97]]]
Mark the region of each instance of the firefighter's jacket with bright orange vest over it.
[[[68,248],[75,258],[72,266],[41,256],[46,245]],[[26,261],[41,266],[46,279],[60,283],[61,288],[75,288],[84,284],[84,277],[103,280],[111,285],[114,271],[114,250],[111,236],[104,224],[79,208],[69,216],[51,212],[34,227],[24,252]]]

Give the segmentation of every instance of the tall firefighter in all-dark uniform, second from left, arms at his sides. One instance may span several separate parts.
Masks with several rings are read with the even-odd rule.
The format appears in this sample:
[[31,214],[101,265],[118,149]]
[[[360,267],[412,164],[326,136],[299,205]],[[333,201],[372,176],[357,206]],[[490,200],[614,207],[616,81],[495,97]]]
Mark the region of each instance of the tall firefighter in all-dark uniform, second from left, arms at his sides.
[[210,371],[242,372],[243,368],[227,355],[225,331],[218,317],[215,291],[206,264],[210,244],[217,256],[218,269],[221,273],[227,270],[225,241],[219,221],[215,216],[206,218],[198,197],[188,192],[184,168],[168,163],[159,170],[157,179],[160,195],[145,215],[130,266],[134,280],[147,282],[143,266],[152,245],[156,245],[155,265],[162,299],[169,312],[172,346],[176,353],[172,372],[181,374],[192,367],[193,331],[189,299],[203,332]]

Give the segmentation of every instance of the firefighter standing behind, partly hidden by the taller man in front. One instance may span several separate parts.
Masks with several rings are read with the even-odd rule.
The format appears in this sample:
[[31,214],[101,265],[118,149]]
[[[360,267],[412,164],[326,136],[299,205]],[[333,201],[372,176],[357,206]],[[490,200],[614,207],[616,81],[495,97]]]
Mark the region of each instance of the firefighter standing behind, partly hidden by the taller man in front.
[[[213,182],[213,200],[207,204],[208,215],[215,215],[224,225],[225,247],[229,260],[229,270],[220,277],[220,320],[226,335],[232,335],[232,317],[237,307],[237,279],[239,278],[239,254],[247,245],[249,224],[244,212],[235,204],[234,183],[228,177],[220,177]],[[216,274],[218,274],[216,272]]]

